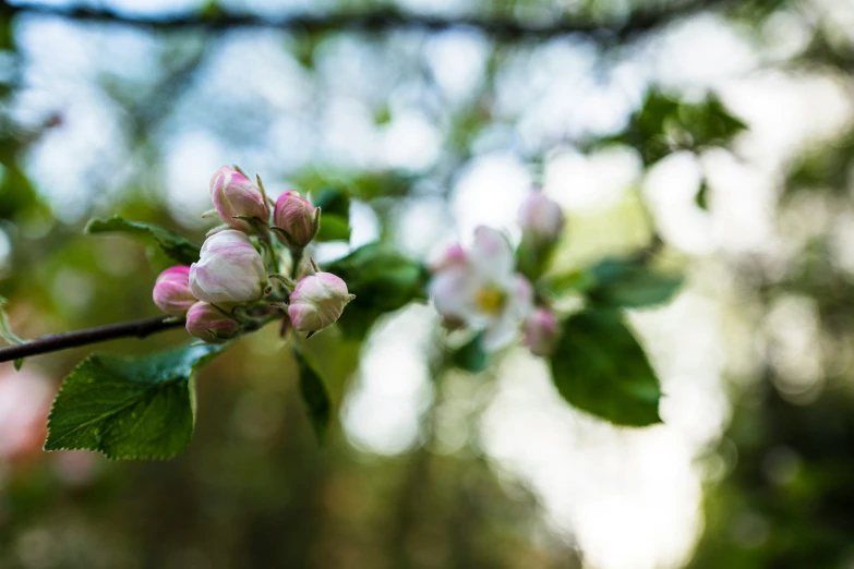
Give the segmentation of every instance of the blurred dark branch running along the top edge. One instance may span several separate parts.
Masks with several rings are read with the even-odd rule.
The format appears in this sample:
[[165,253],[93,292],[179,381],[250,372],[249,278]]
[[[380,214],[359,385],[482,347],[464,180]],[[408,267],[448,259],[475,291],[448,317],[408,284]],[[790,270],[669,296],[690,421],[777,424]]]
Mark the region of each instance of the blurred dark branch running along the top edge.
[[[2,2],[3,0],[0,0]],[[208,31],[234,28],[275,28],[323,34],[327,32],[381,33],[396,29],[443,32],[446,29],[478,29],[496,40],[518,41],[549,39],[566,35],[585,35],[601,40],[626,40],[667,24],[674,19],[737,3],[736,0],[684,0],[673,2],[667,10],[637,10],[614,21],[577,16],[557,19],[545,24],[525,23],[512,19],[489,16],[445,17],[429,14],[405,13],[394,9],[360,12],[333,12],[286,16],[257,14],[224,14],[206,16],[199,13],[179,15],[128,15],[106,8],[55,7],[47,4],[0,5],[0,13],[56,16],[77,22],[118,24],[157,32]]]

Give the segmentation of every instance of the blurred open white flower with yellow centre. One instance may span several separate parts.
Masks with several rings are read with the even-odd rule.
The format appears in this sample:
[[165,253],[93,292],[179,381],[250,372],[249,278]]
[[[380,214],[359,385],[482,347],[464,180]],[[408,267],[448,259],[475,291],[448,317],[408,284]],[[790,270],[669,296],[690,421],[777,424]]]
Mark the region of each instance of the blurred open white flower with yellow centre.
[[516,273],[513,249],[500,231],[479,227],[470,251],[458,245],[434,265],[430,294],[447,322],[483,331],[483,347],[500,350],[533,311],[530,282]]

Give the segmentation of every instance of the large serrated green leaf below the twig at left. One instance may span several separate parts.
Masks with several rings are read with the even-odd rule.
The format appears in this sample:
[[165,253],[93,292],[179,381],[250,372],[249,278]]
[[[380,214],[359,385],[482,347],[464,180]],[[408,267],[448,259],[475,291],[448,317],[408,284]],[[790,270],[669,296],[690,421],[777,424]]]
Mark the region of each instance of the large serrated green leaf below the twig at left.
[[193,375],[225,349],[197,344],[140,359],[91,355],[53,400],[45,450],[96,450],[113,460],[175,457],[193,434]]

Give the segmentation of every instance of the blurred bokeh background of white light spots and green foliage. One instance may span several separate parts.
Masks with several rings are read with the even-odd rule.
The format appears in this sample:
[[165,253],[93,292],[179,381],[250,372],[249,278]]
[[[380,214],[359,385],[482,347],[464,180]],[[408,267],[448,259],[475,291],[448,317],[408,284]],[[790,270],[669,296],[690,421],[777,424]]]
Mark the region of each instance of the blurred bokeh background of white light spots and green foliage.
[[[437,373],[414,304],[312,340],[315,443],[276,330],[199,380],[168,462],[45,453],[91,350],[0,367],[0,568],[851,568],[854,2],[0,2],[0,293],[24,337],[157,314],[165,261],[113,213],[202,239],[220,165],[351,193],[352,238],[430,258],[532,186],[556,266],[662,243],[629,313],[664,424],[569,409],[545,364]],[[147,353],[172,331],[101,349]],[[618,356],[618,355],[615,355]]]

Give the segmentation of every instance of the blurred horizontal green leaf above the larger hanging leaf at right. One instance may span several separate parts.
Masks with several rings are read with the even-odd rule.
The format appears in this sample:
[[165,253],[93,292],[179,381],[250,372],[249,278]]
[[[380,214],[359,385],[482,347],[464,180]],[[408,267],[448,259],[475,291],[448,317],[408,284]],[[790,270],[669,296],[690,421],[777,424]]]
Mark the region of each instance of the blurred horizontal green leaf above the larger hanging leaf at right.
[[652,270],[637,259],[604,259],[589,269],[596,284],[590,302],[605,307],[640,308],[667,302],[682,287],[678,275]]

